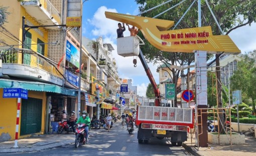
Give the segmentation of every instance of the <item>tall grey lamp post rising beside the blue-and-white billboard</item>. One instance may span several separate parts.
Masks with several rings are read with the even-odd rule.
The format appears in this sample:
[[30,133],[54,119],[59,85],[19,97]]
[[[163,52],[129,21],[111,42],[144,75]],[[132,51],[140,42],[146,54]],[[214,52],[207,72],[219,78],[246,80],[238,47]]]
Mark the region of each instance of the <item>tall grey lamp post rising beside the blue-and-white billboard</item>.
[[81,13],[80,13],[80,15],[81,15],[81,25],[80,25],[80,58],[79,58],[79,79],[78,79],[78,102],[77,102],[77,104],[78,104],[78,111],[77,111],[77,116],[79,116],[80,115],[80,109],[81,109],[81,70],[82,70],[82,15],[83,15],[83,3],[85,2],[85,1],[87,1],[87,0],[81,0]]

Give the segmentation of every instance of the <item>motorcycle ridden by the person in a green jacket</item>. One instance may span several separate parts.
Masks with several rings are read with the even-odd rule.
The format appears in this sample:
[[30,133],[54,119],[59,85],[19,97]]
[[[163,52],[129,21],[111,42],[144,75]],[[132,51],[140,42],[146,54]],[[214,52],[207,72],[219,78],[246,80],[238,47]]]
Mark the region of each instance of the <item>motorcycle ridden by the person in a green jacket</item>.
[[75,132],[75,147],[77,148],[80,143],[85,144],[85,127],[88,126],[87,124],[77,124],[76,132]]

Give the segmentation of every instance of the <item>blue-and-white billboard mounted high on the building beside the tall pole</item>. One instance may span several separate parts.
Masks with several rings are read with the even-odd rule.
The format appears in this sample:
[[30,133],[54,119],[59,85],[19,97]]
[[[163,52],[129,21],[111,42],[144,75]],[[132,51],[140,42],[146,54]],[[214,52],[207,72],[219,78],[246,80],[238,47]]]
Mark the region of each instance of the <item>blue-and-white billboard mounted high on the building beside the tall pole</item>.
[[79,68],[79,50],[69,41],[66,42],[66,60]]

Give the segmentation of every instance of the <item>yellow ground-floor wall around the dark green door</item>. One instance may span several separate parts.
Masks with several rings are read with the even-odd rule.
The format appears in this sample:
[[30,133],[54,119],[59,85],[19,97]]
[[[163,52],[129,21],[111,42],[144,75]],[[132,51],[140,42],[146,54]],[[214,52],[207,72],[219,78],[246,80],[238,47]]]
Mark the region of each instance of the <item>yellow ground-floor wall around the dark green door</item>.
[[[28,90],[28,97],[42,99],[42,125],[41,132],[45,132],[45,118],[46,118],[46,92]],[[11,136],[11,140],[15,139],[16,130],[16,116],[17,116],[17,99],[18,98],[3,98],[3,88],[0,88],[0,136],[5,132]],[[22,101],[21,101],[22,105]],[[20,121],[21,124],[21,113]],[[19,125],[19,130],[21,125]],[[20,132],[20,131],[19,131]],[[22,135],[19,138],[28,137],[29,135]]]

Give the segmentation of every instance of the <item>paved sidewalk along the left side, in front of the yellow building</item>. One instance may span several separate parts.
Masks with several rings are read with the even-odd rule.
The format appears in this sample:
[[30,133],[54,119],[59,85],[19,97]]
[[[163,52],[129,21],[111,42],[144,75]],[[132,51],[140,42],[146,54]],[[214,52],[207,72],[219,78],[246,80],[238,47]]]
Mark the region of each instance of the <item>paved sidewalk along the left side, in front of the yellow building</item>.
[[[119,122],[114,123],[114,126]],[[114,128],[114,127],[112,127]],[[89,139],[91,136],[106,131],[103,127],[100,129],[91,128],[89,130]],[[73,132],[62,134],[43,134],[43,135],[34,135],[27,138],[22,138],[18,140],[18,148],[13,148],[13,141],[0,142],[0,154],[1,153],[20,153],[20,152],[31,152],[31,151],[40,151],[45,149],[51,149],[59,146],[64,146],[75,142],[75,135]]]

